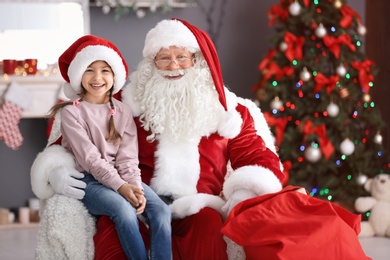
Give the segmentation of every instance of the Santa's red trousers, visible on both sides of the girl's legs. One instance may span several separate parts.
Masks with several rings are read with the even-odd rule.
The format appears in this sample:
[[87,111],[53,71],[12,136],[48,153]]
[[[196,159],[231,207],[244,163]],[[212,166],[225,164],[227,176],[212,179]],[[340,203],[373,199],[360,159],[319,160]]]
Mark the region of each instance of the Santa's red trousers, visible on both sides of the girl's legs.
[[[172,221],[172,255],[175,260],[226,260],[226,243],[222,237],[222,217],[211,209],[184,219]],[[147,229],[140,223],[140,231],[148,245]],[[95,260],[126,259],[115,231],[114,223],[102,216],[94,237]]]

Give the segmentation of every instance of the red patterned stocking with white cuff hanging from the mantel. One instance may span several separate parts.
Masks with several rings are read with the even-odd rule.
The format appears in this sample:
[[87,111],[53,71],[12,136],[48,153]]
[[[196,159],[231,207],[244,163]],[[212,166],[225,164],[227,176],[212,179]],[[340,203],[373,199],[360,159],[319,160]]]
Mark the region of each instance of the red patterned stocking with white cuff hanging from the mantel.
[[0,108],[0,139],[13,150],[23,143],[23,136],[18,128],[22,112],[30,104],[31,95],[23,87],[11,83],[3,97]]

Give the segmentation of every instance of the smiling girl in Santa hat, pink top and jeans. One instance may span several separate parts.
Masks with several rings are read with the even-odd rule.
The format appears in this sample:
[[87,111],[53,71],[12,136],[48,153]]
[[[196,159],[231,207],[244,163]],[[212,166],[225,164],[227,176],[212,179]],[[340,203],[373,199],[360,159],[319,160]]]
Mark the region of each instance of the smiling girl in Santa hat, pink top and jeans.
[[87,35],[59,57],[59,68],[67,81],[64,92],[74,101],[55,105],[51,115],[61,110],[62,145],[85,173],[82,202],[92,215],[113,220],[128,259],[149,259],[138,214],[150,228],[150,259],[171,259],[170,209],[141,182],[133,115],[113,97],[128,74],[121,53],[111,42]]

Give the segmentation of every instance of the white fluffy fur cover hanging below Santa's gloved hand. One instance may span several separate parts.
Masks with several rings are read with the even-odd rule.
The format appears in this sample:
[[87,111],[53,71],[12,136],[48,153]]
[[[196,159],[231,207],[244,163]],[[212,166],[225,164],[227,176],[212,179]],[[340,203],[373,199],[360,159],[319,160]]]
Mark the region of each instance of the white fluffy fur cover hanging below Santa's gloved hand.
[[63,195],[41,200],[36,260],[93,259],[96,219],[83,203]]

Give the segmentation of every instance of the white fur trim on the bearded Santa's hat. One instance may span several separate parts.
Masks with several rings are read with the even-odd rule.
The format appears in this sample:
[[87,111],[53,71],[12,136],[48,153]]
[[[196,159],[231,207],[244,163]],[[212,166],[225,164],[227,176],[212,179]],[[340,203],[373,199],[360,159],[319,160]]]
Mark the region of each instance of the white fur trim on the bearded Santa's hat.
[[146,35],[144,57],[154,58],[162,48],[184,47],[190,52],[200,50],[194,34],[178,20],[163,20]]

